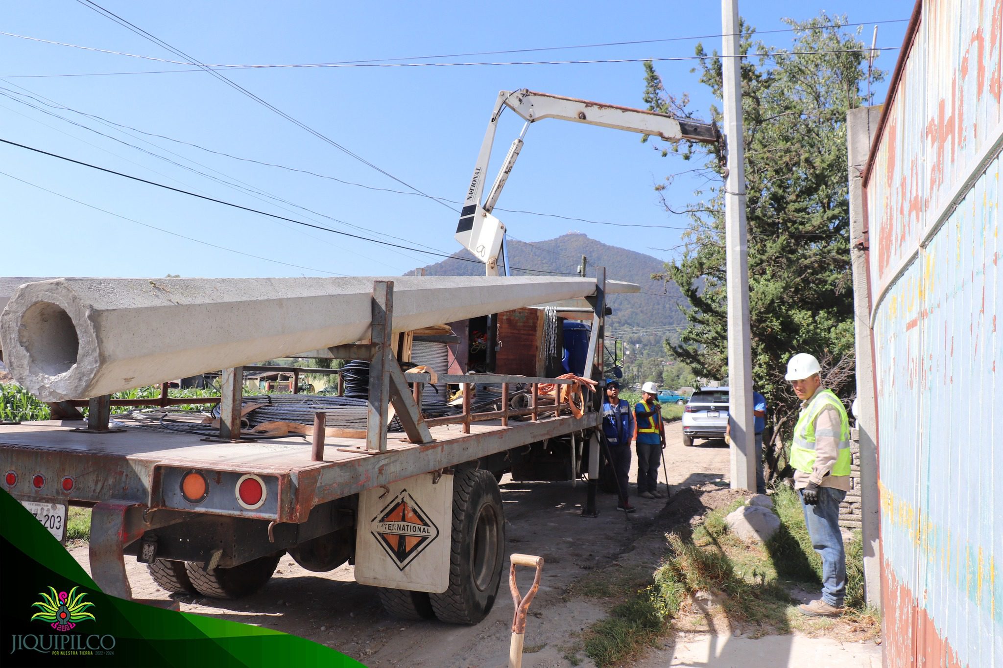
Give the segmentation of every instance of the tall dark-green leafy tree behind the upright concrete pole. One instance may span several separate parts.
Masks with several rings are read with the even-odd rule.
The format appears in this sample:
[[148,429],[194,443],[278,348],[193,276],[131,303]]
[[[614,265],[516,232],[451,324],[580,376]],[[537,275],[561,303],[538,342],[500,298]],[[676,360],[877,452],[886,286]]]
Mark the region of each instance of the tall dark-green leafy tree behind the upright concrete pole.
[[[844,27],[845,16],[822,13],[786,22],[795,35],[790,52],[754,39],[754,29],[744,23],[740,40],[740,52],[751,54],[742,58],[740,71],[752,376],[770,403],[772,427],[784,434],[797,406],[783,380],[792,354],[817,357],[828,370],[823,380],[841,397],[854,390],[846,118],[849,109],[869,102],[862,92],[867,51]],[[766,53],[770,55],[762,55]],[[696,55],[708,56],[702,44]],[[721,99],[721,60],[716,55],[700,60],[698,71],[701,83]],[[648,108],[690,117],[688,98],[667,92],[650,62],[645,69]],[[873,72],[872,78],[881,80],[883,73]],[[711,106],[710,111],[720,123],[720,110]],[[701,172],[710,183],[695,191],[698,202],[684,210],[666,204],[672,213],[689,218],[689,229],[679,258],[658,275],[675,281],[691,307],[685,310],[688,327],[677,343],[666,341],[665,348],[697,376],[724,379],[724,151],[720,145],[688,142],[655,148],[663,155],[702,162],[687,171]]]

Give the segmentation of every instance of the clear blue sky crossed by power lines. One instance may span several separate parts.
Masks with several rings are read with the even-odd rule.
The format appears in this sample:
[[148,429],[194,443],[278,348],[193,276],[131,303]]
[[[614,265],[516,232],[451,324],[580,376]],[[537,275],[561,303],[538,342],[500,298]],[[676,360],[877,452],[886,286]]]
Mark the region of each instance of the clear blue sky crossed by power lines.
[[[98,4],[211,64],[657,58],[692,55],[697,41],[703,41],[708,51],[720,49],[716,36],[676,39],[719,35],[717,3],[106,0]],[[758,30],[766,31],[785,28],[783,17],[806,19],[820,10],[846,13],[852,22],[907,19],[912,6],[898,1],[744,0],[739,10]],[[7,0],[3,19],[0,30],[7,33],[184,60],[85,2]],[[878,45],[899,47],[905,29],[904,21],[882,24]],[[864,27],[865,41],[870,42],[872,31],[872,25]],[[762,38],[767,44],[787,47],[791,35],[779,32]],[[667,39],[676,41],[553,48]],[[517,49],[551,50],[481,53]],[[479,55],[453,55],[468,53]],[[433,57],[402,60],[423,56]],[[897,57],[898,51],[885,51],[877,66],[891,70]],[[690,73],[692,66],[688,61],[665,62],[658,69],[667,87],[689,93],[706,116],[711,100]],[[458,214],[449,207],[458,205],[447,207],[425,196],[389,190],[408,191],[413,186],[435,197],[461,199],[498,90],[530,88],[643,106],[640,63],[268,68],[224,73],[386,172],[382,173],[211,74],[177,71],[192,69],[0,35],[0,138],[311,224],[451,253],[458,249],[452,237]],[[38,76],[153,70],[172,71]],[[875,88],[878,101],[884,99],[885,85]],[[135,129],[123,133],[121,127],[59,107]],[[515,114],[503,116],[495,163],[521,127]],[[330,178],[237,160],[136,130]],[[633,133],[577,123],[537,123],[530,128],[498,207],[667,227],[641,229],[552,215],[495,213],[515,238],[534,241],[577,230],[669,259],[670,252],[657,249],[676,245],[679,230],[672,227],[682,227],[685,221],[664,211],[653,186],[681,169],[681,162],[660,157],[639,139]],[[164,157],[239,187],[184,169]],[[495,168],[492,164],[490,178]],[[441,259],[235,210],[8,144],[0,144],[0,275],[393,275]],[[682,204],[693,199],[691,189],[691,184],[679,182],[666,196]],[[564,261],[567,267],[562,268],[573,271],[577,258]]]

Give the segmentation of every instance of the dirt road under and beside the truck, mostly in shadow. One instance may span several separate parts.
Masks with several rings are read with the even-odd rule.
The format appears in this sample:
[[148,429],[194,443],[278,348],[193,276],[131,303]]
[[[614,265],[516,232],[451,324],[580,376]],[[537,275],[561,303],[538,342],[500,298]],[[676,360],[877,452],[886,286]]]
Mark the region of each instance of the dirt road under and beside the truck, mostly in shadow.
[[[530,609],[525,666],[571,666],[577,634],[604,617],[595,601],[568,597],[575,581],[613,563],[655,568],[664,554],[664,531],[702,515],[690,487],[726,488],[728,449],[722,441],[683,448],[678,422],[667,426],[668,480],[673,497],[646,500],[632,496],[637,513],[616,510],[616,497],[600,494],[598,518],[583,518],[586,485],[501,481],[508,524],[507,554],[544,557],[540,593]],[[636,467],[636,455],[635,455]],[[665,480],[664,476],[661,480]],[[631,487],[636,481],[631,475]],[[633,495],[633,490],[632,490]],[[89,572],[87,548],[71,550]],[[168,594],[150,579],[144,564],[126,558],[132,595],[176,598],[184,612],[256,624],[308,638],[358,659],[367,666],[504,666],[509,653],[514,605],[507,578],[488,617],[472,627],[439,622],[402,622],[386,615],[369,587],[354,582],[353,567],[330,573],[300,568],[288,555],[260,593],[240,601],[218,601]],[[532,573],[522,573],[525,591]],[[591,665],[584,654],[582,665]]]

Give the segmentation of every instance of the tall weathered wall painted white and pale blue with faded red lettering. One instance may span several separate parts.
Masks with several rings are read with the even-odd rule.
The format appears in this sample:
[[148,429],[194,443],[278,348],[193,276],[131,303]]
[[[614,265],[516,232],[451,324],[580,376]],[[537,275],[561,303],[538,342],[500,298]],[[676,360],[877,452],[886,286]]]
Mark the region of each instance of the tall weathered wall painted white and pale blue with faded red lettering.
[[886,665],[1003,666],[1003,0],[906,46],[864,176]]

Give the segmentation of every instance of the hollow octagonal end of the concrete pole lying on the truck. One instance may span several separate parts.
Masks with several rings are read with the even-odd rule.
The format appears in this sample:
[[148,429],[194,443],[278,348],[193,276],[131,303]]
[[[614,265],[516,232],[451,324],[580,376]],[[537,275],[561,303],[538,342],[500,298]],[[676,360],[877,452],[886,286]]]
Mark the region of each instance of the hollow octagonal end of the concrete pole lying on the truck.
[[22,285],[0,315],[4,364],[43,402],[88,399],[98,371],[89,307],[60,279]]

